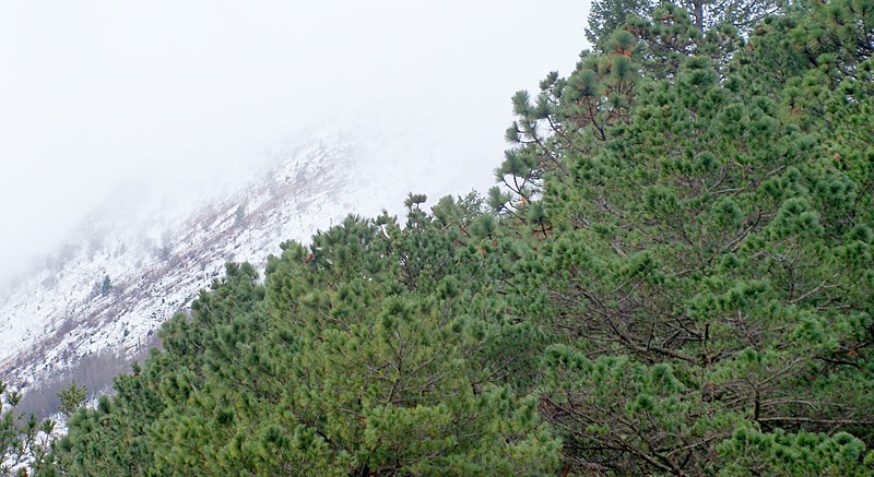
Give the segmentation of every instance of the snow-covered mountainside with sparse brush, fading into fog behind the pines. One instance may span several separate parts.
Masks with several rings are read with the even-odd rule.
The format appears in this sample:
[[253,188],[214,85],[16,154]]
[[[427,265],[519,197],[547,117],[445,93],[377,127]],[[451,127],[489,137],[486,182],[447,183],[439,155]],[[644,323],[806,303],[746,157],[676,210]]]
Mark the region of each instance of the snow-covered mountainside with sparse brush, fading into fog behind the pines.
[[165,201],[95,213],[43,270],[0,298],[0,379],[26,392],[84,357],[131,356],[228,261],[263,270],[279,243],[306,242],[349,213],[397,214],[414,189],[464,192],[434,182],[441,158],[430,146],[398,132],[318,131],[198,206],[180,212]]

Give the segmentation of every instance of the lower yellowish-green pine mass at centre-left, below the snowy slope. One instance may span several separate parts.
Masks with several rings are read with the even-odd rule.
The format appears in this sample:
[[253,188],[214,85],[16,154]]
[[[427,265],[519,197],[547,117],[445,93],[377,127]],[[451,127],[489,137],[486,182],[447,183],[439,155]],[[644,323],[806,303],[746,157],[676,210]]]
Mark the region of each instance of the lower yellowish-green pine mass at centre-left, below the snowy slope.
[[[249,265],[228,265],[190,319],[164,325],[163,351],[119,378],[115,397],[70,420],[56,468],[554,469],[557,441],[536,402],[511,389],[531,385],[524,372],[510,373],[532,367],[536,339],[530,326],[506,322],[483,289],[493,283],[487,274],[501,273],[503,255],[485,260],[485,249],[464,238],[482,203],[439,204],[442,222],[411,207],[403,229],[385,215],[350,217],[309,248],[285,243],[270,260],[267,288]],[[471,303],[487,314],[465,312]]]

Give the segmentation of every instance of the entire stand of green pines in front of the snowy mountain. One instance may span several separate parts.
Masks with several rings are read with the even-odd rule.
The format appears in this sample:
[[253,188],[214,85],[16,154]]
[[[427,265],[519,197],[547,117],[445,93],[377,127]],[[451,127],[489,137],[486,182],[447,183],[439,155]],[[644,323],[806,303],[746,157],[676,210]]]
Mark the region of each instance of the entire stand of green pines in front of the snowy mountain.
[[7,405],[0,451],[31,439],[37,475],[874,474],[874,2],[602,0],[587,34],[512,98],[498,187],[350,216],[263,281],[228,264],[67,437]]

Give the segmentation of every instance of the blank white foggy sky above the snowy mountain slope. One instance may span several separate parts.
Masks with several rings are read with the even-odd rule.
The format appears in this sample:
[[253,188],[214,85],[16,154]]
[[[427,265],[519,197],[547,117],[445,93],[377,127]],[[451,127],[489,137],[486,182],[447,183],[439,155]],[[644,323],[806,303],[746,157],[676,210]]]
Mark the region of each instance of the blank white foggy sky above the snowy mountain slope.
[[482,139],[491,170],[510,96],[570,72],[587,10],[586,0],[0,0],[0,285],[119,183],[229,169],[332,118],[451,115],[472,147]]

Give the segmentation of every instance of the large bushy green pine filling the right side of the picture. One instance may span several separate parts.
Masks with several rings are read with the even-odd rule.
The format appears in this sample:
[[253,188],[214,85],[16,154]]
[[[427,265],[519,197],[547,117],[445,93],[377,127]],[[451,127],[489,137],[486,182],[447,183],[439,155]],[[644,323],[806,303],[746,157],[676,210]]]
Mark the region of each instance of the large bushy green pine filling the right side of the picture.
[[[581,147],[545,147],[567,172],[541,178],[555,234],[518,262],[517,293],[560,343],[547,354],[541,409],[563,430],[570,469],[838,475],[872,460],[871,83],[846,75],[866,64],[865,48],[852,57],[834,43],[845,57],[803,60],[792,41],[823,23],[818,8],[775,22],[804,26],[789,39],[766,31],[730,69],[696,56],[695,41],[665,48],[668,69],[645,55],[626,120],[601,138],[575,135]],[[845,41],[864,45],[865,32]],[[794,71],[755,48],[787,41],[791,61],[777,59]],[[775,444],[744,455],[737,429]],[[849,445],[851,460],[773,461],[804,445]]]

